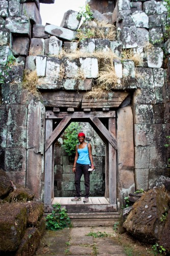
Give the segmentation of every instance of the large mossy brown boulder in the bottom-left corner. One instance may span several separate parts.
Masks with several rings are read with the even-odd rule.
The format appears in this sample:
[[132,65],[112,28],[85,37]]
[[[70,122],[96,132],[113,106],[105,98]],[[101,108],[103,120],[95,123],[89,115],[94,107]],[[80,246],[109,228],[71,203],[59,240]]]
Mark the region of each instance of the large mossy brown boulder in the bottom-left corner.
[[16,251],[26,230],[27,209],[23,204],[1,205],[0,250]]

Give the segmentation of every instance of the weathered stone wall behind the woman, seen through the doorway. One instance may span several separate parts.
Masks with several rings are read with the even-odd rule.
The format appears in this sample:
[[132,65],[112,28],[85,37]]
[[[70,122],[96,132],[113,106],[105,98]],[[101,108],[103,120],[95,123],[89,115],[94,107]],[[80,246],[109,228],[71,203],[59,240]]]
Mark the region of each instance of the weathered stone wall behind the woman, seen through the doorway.
[[[90,174],[90,196],[105,195],[105,144],[89,123],[79,123],[86,141],[92,146],[92,156],[95,172]],[[75,177],[72,173],[74,157],[69,157],[62,148],[63,135],[55,143],[54,158],[54,196],[72,197],[75,195]],[[82,195],[85,194],[84,177],[81,179]]]

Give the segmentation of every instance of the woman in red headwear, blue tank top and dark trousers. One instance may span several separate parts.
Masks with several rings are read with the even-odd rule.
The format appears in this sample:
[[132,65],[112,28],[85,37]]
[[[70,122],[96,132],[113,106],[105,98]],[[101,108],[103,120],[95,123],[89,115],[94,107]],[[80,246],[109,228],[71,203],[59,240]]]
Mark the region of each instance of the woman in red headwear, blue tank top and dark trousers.
[[93,159],[91,154],[91,145],[85,142],[85,134],[78,134],[79,144],[76,146],[76,156],[74,165],[72,166],[72,172],[75,173],[75,187],[76,196],[71,199],[71,201],[81,200],[81,190],[80,190],[80,180],[82,175],[84,175],[84,185],[85,185],[85,198],[83,202],[87,203],[89,201],[90,192],[90,172],[88,171],[90,165],[91,169],[94,169]]

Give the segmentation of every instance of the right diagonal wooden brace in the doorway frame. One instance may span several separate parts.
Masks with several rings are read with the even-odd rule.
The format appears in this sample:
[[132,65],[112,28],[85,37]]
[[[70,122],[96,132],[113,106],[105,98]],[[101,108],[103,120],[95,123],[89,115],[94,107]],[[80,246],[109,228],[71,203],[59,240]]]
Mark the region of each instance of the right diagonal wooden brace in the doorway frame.
[[[90,124],[95,129],[95,131],[99,134],[104,141],[108,141],[115,150],[117,149],[117,143],[115,137],[107,130],[105,125],[99,120],[98,117],[90,117]],[[94,125],[95,127],[94,127]]]

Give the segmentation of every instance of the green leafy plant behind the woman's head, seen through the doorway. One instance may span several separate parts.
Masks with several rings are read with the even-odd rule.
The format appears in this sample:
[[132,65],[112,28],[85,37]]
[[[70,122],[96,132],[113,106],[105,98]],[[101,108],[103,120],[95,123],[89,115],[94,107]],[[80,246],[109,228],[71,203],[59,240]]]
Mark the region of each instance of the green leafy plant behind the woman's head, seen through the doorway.
[[81,125],[77,122],[72,122],[64,132],[62,147],[68,156],[72,156],[76,152],[76,145],[78,144],[77,136],[80,131]]

